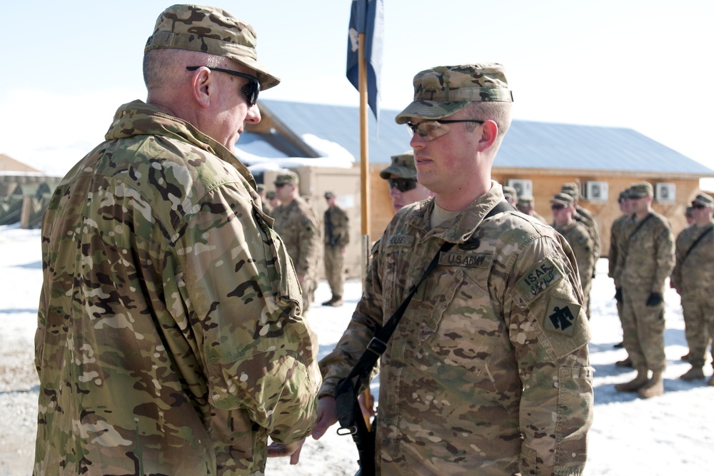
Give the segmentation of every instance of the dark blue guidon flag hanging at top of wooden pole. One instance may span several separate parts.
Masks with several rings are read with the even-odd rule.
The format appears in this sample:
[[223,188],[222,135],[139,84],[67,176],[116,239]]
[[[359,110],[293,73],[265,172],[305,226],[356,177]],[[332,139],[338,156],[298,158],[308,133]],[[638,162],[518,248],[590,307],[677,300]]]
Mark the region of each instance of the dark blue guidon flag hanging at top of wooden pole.
[[365,34],[364,56],[367,60],[367,103],[379,119],[377,91],[382,69],[382,39],[384,36],[383,0],[352,0],[350,31],[347,41],[347,79],[359,91],[359,41]]

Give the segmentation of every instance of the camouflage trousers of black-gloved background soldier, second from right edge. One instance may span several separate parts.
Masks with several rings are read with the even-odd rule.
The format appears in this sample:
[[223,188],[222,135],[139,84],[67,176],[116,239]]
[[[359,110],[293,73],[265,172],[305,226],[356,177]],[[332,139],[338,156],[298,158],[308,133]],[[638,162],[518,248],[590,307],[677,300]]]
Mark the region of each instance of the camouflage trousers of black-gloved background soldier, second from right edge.
[[649,288],[623,288],[623,343],[635,369],[664,370],[665,305],[646,305],[649,295]]

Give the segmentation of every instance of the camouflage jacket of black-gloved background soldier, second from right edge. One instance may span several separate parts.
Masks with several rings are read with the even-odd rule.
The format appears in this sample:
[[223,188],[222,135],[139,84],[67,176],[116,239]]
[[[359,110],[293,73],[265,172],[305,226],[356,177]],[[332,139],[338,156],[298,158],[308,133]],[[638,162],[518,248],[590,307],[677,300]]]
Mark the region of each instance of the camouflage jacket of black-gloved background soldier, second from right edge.
[[615,266],[620,285],[664,294],[674,268],[674,236],[667,218],[655,212],[642,220],[633,216],[625,222],[623,235]]

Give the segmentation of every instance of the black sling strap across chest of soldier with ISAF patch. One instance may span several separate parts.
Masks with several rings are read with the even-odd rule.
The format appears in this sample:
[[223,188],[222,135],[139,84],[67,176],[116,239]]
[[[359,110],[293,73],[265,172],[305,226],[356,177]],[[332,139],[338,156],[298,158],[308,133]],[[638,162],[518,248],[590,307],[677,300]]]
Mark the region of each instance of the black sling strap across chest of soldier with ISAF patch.
[[[508,203],[508,202],[500,202],[496,204],[495,207],[489,211],[486,216],[483,218],[486,220],[487,218],[491,218],[492,216],[502,213],[504,211],[512,211],[516,210],[516,208],[513,208],[513,206]],[[353,378],[357,377],[357,381],[354,384],[354,388],[358,391],[360,388],[361,382],[364,378],[368,378],[369,373],[371,373],[372,368],[374,365],[377,363],[377,360],[381,357],[381,355],[384,353],[384,351],[387,349],[387,343],[389,339],[392,336],[392,333],[397,327],[397,324],[399,323],[399,320],[401,319],[402,315],[404,314],[404,311],[406,310],[407,306],[409,305],[409,302],[411,301],[411,298],[413,298],[414,294],[416,293],[417,288],[423,281],[426,279],[426,276],[431,273],[431,271],[436,268],[436,265],[438,265],[439,261],[439,256],[441,253],[448,251],[451,249],[451,247],[454,245],[454,243],[448,243],[445,242],[443,245],[441,245],[441,248],[439,248],[438,252],[434,256],[433,260],[431,260],[431,263],[429,263],[428,267],[426,268],[426,271],[424,271],[423,275],[421,276],[421,279],[418,280],[418,282],[411,287],[411,290],[407,297],[404,299],[403,303],[397,308],[396,311],[391,315],[391,318],[387,321],[387,323],[384,325],[383,328],[380,328],[379,330],[376,331],[374,337],[370,341],[370,343],[367,345],[367,350],[362,354],[362,356],[359,358],[357,361],[356,365],[352,369],[352,371],[349,373],[349,375],[343,379],[344,380],[352,380]],[[339,390],[339,386],[336,389],[336,391]]]

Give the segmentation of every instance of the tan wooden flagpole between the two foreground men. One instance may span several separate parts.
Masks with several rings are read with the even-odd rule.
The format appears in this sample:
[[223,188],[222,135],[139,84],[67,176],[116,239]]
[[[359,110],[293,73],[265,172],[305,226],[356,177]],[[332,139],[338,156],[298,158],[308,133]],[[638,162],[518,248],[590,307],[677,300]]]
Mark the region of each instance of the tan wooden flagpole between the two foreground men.
[[[367,101],[367,59],[364,54],[365,34],[360,33],[359,38],[359,136],[360,136],[360,177],[361,177],[361,211],[362,211],[362,287],[367,276],[369,263],[369,150],[368,150],[368,101]],[[372,407],[372,394],[369,387],[363,392],[364,405]],[[367,430],[371,430],[369,415],[363,412]]]

